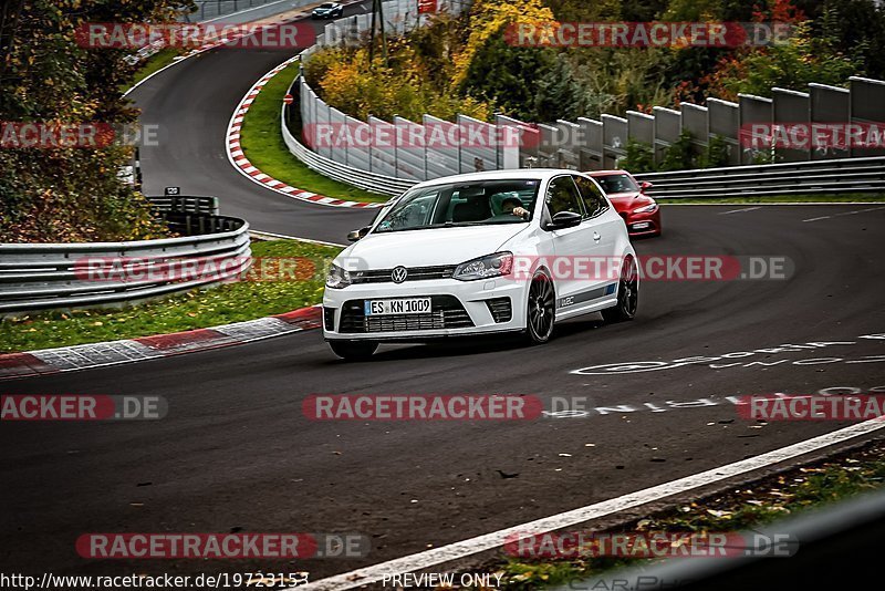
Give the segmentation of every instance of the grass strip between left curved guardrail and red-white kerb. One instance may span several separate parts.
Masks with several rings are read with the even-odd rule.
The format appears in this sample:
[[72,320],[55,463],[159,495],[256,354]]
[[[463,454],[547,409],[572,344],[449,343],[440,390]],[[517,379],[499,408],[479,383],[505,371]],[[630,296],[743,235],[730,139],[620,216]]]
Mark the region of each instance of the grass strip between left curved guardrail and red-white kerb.
[[50,311],[4,319],[0,321],[0,352],[202,329],[313,305],[322,300],[322,270],[339,251],[339,248],[295,240],[254,242],[253,257],[303,257],[310,259],[314,272],[308,280],[227,283],[122,310]]

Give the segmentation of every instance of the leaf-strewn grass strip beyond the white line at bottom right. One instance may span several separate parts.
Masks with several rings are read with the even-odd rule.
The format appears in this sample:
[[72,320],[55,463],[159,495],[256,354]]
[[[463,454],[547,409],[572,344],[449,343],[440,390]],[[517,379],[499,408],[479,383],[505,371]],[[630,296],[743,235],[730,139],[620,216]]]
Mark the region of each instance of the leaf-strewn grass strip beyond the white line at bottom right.
[[[613,531],[704,532],[740,531],[791,514],[881,488],[885,481],[885,442],[839,454],[813,465],[644,516]],[[649,559],[576,557],[560,560],[510,558],[477,569],[501,576],[506,590],[568,584],[613,568]]]

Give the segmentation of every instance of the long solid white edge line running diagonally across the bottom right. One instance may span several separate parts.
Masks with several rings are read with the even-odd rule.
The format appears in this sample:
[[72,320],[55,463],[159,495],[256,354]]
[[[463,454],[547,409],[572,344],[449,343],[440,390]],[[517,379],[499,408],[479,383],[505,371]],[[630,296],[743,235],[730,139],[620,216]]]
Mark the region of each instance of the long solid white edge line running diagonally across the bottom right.
[[478,552],[492,550],[503,546],[506,542],[511,542],[519,538],[525,538],[531,535],[543,533],[546,531],[554,531],[566,527],[573,527],[579,523],[590,521],[591,519],[598,519],[625,509],[632,509],[641,505],[660,500],[665,497],[686,492],[709,484],[719,483],[733,476],[739,476],[758,470],[760,468],[766,468],[803,454],[816,452],[818,449],[822,449],[830,445],[839,444],[862,435],[867,435],[883,427],[885,427],[885,421],[882,418],[873,418],[865,421],[864,423],[858,423],[856,425],[827,433],[825,435],[805,439],[804,442],[788,445],[787,447],[781,447],[780,449],[774,449],[773,452],[768,452],[767,454],[762,454],[749,459],[742,459],[740,462],[735,462],[733,464],[727,464],[718,468],[712,468],[710,470],[687,476],[685,478],[679,478],[678,480],[653,486],[650,488],[629,492],[622,497],[587,505],[586,507],[581,507],[580,509],[544,517],[542,519],[537,519],[534,521],[501,529],[483,536],[477,536],[476,538],[450,543],[448,546],[441,546],[439,548],[434,548],[433,550],[426,550],[416,554],[397,558],[387,562],[366,567],[364,569],[345,572],[344,574],[336,574],[334,577],[321,579],[308,585],[299,587],[298,589],[304,591],[337,591],[343,589],[353,589],[363,584],[378,582],[385,574],[424,570],[430,567],[442,564],[445,562],[476,554]]

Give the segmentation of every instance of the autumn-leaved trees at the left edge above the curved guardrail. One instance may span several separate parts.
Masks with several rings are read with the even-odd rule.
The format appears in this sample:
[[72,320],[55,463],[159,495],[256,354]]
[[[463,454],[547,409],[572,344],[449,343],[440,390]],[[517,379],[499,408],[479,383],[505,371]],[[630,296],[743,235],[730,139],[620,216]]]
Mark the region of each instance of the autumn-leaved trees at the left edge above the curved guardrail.
[[[80,46],[86,23],[168,21],[176,0],[14,0],[0,14],[0,121],[133,124],[122,49]],[[192,7],[190,7],[192,8]],[[132,148],[0,149],[0,241],[137,239],[165,231],[117,178]]]

